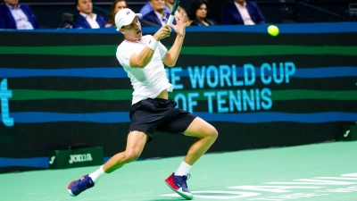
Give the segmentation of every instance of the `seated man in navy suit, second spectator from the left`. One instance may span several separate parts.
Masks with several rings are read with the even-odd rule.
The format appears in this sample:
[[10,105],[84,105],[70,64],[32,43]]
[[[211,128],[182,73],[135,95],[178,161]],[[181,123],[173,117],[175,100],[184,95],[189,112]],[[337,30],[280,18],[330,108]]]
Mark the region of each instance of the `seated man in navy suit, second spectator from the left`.
[[99,29],[104,28],[106,22],[102,16],[99,16],[93,12],[92,0],[75,0],[77,10],[79,14],[76,20],[73,21],[73,29]]

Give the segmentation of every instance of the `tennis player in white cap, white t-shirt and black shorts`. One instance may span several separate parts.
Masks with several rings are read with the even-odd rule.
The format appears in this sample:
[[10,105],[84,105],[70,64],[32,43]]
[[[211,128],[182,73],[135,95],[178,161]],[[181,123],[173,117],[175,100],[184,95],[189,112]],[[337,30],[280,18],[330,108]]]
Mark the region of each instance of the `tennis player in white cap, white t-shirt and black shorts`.
[[[179,58],[186,34],[187,21],[183,20],[185,15],[180,13],[176,18],[176,25],[163,25],[154,36],[144,37],[137,16],[140,14],[133,13],[130,9],[122,9],[115,16],[116,27],[124,35],[116,56],[134,88],[126,150],[113,155],[95,172],[71,181],[68,186],[71,196],[78,196],[87,188],[94,187],[104,173],[111,173],[124,164],[137,160],[145,143],[154,138],[154,131],[162,130],[198,138],[189,147],[178,170],[165,180],[181,197],[192,199],[193,194],[187,188],[188,172],[218,137],[217,130],[211,124],[193,113],[175,107],[177,103],[168,99],[168,92],[172,91],[173,86],[166,77],[164,64],[172,67]],[[170,37],[171,28],[177,36],[168,51],[160,40]]]

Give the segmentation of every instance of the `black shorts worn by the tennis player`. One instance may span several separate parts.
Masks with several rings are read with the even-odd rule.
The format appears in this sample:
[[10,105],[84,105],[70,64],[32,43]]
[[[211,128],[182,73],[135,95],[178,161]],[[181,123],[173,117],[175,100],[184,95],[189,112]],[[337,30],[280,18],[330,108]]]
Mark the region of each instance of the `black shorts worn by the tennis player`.
[[176,105],[175,101],[162,98],[147,98],[131,105],[129,131],[145,132],[148,141],[153,140],[155,130],[182,134],[196,116]]

